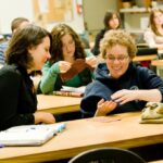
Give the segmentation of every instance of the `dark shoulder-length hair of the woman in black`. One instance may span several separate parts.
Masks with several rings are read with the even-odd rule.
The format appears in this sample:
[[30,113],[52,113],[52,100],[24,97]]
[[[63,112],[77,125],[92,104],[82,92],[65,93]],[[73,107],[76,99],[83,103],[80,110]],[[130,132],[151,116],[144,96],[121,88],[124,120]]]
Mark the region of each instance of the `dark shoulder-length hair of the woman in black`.
[[28,49],[40,45],[47,36],[51,40],[50,33],[36,25],[27,25],[25,28],[17,29],[5,51],[7,63],[18,64],[26,70],[30,68],[33,66],[33,58],[28,53]]

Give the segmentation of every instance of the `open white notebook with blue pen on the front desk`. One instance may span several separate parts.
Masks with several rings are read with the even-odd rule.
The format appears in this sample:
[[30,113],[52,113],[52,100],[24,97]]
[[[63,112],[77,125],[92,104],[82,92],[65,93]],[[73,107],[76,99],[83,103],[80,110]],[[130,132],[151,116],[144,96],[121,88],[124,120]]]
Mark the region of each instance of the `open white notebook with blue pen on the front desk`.
[[40,146],[62,131],[65,124],[23,125],[0,131],[1,146]]

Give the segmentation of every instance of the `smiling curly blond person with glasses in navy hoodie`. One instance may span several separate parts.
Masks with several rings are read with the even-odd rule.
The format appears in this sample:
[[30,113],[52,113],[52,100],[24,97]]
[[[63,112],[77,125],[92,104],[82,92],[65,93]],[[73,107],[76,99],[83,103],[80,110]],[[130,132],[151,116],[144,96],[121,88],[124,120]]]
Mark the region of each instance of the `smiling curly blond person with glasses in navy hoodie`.
[[131,62],[137,48],[127,32],[109,30],[100,50],[105,63],[98,65],[95,82],[86,88],[80,103],[84,117],[138,111],[147,101],[163,101],[163,80]]

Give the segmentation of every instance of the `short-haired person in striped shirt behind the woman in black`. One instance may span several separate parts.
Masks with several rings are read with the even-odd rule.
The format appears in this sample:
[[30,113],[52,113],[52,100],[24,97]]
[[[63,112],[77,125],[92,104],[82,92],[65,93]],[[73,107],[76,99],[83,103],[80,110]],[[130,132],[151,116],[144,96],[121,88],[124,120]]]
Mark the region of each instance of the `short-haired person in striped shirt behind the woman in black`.
[[[23,28],[26,25],[29,24],[29,21],[26,17],[16,17],[11,22],[11,32],[12,35],[18,29]],[[9,46],[9,41],[4,41],[0,43],[0,64],[4,65],[5,63],[5,57],[4,57],[4,51]]]

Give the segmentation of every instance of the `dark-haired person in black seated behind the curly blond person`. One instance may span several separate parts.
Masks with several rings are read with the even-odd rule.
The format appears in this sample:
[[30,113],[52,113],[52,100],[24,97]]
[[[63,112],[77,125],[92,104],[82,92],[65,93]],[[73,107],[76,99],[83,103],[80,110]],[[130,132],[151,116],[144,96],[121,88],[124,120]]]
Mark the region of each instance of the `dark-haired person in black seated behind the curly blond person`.
[[96,36],[96,40],[95,40],[95,46],[91,50],[91,52],[95,55],[98,55],[100,53],[100,40],[103,38],[104,34],[110,30],[110,29],[117,29],[121,27],[121,18],[118,13],[116,12],[112,12],[112,11],[106,11],[104,18],[103,18],[103,24],[104,24],[104,28],[101,29],[97,36]]

